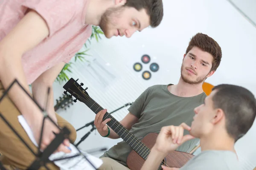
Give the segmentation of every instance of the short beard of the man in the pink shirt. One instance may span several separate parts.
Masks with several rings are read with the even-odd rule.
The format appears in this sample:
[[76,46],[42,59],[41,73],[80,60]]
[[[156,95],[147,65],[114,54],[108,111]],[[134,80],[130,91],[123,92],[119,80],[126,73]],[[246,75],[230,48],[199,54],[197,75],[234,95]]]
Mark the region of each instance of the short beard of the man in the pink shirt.
[[123,11],[122,6],[120,7],[114,7],[114,8],[108,8],[104,14],[102,14],[99,27],[105,34],[105,37],[110,38],[113,36],[113,33],[111,34],[111,28],[114,28],[114,26],[117,25],[115,22],[115,19],[119,17],[120,13]]

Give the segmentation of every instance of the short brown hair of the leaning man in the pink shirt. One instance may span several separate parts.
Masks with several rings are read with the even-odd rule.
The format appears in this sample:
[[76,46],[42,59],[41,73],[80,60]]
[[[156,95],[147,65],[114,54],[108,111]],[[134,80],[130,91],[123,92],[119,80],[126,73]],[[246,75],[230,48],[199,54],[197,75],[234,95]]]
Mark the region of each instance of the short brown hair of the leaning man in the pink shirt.
[[163,19],[162,0],[126,0],[124,6],[134,7],[138,11],[145,9],[150,17],[150,26],[157,27]]

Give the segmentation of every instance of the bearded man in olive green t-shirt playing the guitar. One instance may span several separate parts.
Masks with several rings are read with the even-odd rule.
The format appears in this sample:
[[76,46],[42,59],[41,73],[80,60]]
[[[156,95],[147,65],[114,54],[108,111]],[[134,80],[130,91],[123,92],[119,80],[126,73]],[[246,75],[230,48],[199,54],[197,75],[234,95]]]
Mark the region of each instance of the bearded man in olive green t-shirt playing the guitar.
[[[120,123],[139,139],[148,133],[159,133],[163,126],[177,126],[182,122],[191,125],[193,109],[204,103],[206,97],[202,84],[218,68],[221,55],[220,46],[211,37],[201,33],[193,36],[183,56],[178,84],[147,88],[128,108],[128,115]],[[105,113],[106,110],[100,111],[94,124],[102,136],[118,139],[115,131],[106,125],[110,119],[102,120]],[[189,140],[177,150],[190,152],[198,142],[199,139]],[[101,156],[104,163],[99,170],[128,170],[126,159],[131,150],[128,143],[119,142]]]

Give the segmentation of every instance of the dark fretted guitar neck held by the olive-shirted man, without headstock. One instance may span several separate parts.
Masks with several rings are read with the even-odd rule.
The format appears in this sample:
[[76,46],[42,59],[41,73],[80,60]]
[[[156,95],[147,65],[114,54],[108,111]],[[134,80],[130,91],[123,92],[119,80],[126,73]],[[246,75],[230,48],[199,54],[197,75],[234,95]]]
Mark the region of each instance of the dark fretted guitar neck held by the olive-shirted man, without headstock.
[[[89,97],[90,98],[90,97]],[[84,101],[84,104],[90,108],[95,114],[103,110],[103,108],[95,102],[92,98]],[[105,119],[111,118],[107,123],[111,129],[116,132],[127,144],[131,146],[143,159],[146,159],[149,155],[150,149],[143,144],[136,136],[134,136],[129,130],[127,130],[120,122],[118,122],[110,113],[106,112],[103,116]]]

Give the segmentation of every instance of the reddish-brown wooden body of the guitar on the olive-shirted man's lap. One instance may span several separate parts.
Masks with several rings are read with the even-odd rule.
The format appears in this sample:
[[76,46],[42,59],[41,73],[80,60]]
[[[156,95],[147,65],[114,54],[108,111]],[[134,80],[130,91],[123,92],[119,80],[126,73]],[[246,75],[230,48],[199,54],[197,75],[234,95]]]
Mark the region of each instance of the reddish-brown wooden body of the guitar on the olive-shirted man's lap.
[[[142,140],[148,148],[152,148],[157,140],[157,133],[148,133]],[[179,152],[179,151],[172,151],[165,157],[165,163],[169,167],[177,167],[180,168],[184,164],[186,164],[187,161],[192,159],[194,155],[190,153],[185,153],[185,152]],[[128,165],[129,169],[131,170],[140,170],[141,167],[143,166],[145,160],[134,150],[132,150],[127,159],[126,159],[126,164]]]

